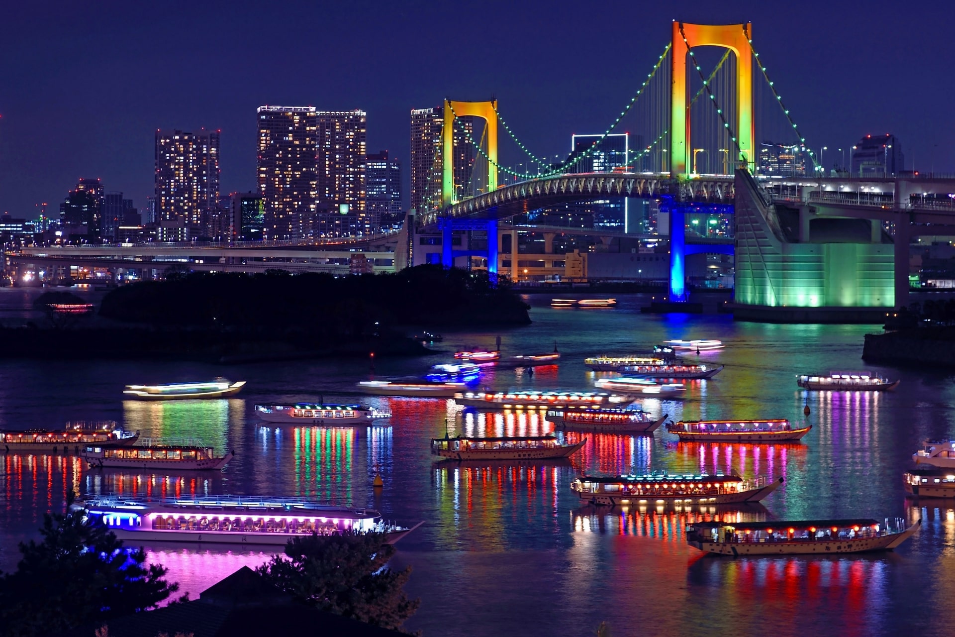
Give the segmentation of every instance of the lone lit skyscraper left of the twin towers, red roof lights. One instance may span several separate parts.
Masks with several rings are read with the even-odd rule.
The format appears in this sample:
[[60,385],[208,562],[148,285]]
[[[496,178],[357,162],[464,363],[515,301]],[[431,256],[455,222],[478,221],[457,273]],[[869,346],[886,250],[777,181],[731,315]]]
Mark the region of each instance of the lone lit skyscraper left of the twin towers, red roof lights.
[[198,226],[219,202],[219,131],[156,132],[156,215],[159,222]]

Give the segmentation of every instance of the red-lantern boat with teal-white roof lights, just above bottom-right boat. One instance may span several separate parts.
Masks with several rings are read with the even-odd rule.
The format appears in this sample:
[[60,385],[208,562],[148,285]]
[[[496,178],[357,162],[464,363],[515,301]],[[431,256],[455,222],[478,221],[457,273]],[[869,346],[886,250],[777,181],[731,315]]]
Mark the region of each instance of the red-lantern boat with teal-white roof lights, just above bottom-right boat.
[[584,476],[570,488],[591,504],[741,504],[758,502],[775,491],[782,478],[747,480],[716,474],[691,475],[657,472],[644,476]]

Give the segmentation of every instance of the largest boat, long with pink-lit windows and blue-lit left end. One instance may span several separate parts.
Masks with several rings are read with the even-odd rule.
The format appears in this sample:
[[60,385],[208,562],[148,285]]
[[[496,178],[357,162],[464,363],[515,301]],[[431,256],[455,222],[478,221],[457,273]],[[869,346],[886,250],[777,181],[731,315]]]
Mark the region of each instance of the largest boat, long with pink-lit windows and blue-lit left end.
[[417,528],[385,522],[371,509],[306,499],[207,496],[145,500],[90,497],[74,503],[120,540],[280,544],[289,538],[352,530],[385,533],[394,543]]

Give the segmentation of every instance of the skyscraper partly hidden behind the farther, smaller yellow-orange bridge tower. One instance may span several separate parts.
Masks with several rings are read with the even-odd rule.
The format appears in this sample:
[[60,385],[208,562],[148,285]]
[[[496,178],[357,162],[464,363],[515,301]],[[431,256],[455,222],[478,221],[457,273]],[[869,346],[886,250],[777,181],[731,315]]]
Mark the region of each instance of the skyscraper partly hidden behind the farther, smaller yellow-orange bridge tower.
[[[462,117],[455,130],[455,188],[459,195],[464,193],[473,174],[476,151],[465,131],[473,135],[474,123],[472,117]],[[441,199],[443,128],[443,107],[412,110],[411,207],[418,212],[430,210]]]

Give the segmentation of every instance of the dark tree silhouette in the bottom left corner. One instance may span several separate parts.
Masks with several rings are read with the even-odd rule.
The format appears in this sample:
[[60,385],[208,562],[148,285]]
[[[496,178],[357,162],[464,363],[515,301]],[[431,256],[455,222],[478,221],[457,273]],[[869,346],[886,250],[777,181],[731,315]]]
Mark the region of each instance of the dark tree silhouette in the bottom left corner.
[[20,542],[16,570],[0,577],[0,634],[59,634],[98,620],[154,607],[179,584],[166,569],[145,564],[142,549],[128,549],[81,511],[47,514],[42,541]]

